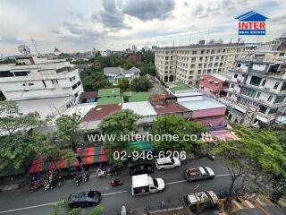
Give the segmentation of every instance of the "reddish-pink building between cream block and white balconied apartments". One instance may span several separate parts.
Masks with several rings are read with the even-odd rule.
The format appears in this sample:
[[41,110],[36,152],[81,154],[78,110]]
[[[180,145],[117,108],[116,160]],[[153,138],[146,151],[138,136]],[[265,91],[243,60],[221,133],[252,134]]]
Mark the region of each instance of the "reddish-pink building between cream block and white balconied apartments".
[[209,97],[224,97],[228,88],[227,75],[223,74],[203,74],[200,76],[199,90]]

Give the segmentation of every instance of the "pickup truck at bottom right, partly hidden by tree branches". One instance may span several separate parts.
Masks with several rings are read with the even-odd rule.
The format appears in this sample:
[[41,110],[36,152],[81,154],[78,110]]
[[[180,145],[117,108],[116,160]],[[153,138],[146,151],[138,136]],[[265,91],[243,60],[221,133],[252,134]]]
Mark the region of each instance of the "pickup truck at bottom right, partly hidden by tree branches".
[[216,205],[217,200],[218,198],[214,191],[190,193],[183,196],[183,202],[190,210],[196,210],[199,201],[202,204],[201,206],[211,207]]

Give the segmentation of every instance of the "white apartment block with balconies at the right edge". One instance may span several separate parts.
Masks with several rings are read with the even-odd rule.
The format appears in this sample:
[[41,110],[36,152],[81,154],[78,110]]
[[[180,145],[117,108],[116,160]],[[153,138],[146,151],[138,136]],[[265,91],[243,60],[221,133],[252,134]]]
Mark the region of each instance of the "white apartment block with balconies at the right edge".
[[231,68],[227,97],[231,122],[244,125],[268,125],[284,115],[286,97],[286,63],[247,58]]

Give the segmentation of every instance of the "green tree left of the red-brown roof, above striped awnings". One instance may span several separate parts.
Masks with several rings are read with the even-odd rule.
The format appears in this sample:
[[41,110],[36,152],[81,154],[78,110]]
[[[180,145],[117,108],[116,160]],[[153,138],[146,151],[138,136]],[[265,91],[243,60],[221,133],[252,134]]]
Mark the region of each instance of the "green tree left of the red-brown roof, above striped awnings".
[[80,115],[63,115],[56,119],[57,136],[64,146],[71,146],[76,152],[76,144],[81,140]]

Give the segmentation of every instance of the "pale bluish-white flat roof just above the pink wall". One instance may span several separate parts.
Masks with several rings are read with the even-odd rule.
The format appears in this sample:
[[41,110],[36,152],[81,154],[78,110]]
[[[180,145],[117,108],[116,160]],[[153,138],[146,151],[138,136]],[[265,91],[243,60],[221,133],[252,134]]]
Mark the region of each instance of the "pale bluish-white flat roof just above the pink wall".
[[202,110],[226,107],[222,103],[206,96],[189,97],[188,99],[179,101],[179,103],[181,104],[181,106],[186,107],[189,110]]

